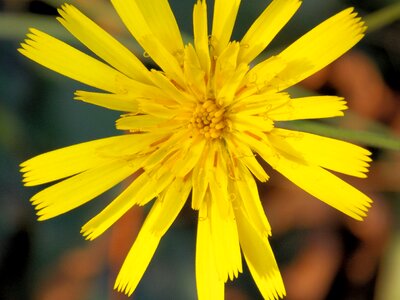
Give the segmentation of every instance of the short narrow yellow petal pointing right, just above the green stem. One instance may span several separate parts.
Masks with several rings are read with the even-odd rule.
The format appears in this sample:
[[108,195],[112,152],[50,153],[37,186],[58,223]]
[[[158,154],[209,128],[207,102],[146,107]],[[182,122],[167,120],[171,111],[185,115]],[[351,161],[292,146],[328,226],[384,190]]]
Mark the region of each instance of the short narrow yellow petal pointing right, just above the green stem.
[[336,96],[314,96],[290,99],[284,105],[271,105],[266,113],[275,121],[320,119],[343,116],[346,101]]

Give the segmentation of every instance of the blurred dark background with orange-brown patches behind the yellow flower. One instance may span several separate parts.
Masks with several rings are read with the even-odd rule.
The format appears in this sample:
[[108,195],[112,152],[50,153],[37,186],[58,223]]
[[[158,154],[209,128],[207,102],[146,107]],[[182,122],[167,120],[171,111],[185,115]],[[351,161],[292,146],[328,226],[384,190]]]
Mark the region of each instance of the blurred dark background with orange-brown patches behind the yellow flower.
[[[0,300],[128,299],[112,290],[145,211],[134,208],[93,242],[80,227],[120,187],[73,212],[38,222],[29,198],[40,188],[21,184],[18,165],[59,147],[119,134],[118,113],[73,100],[83,88],[29,61],[16,49],[29,27],[84,49],[55,20],[64,1],[0,0]],[[190,40],[194,0],[170,1]],[[270,1],[242,1],[240,39]],[[343,177],[374,199],[365,222],[352,221],[268,169],[260,186],[273,228],[272,246],[287,299],[400,299],[400,2],[304,0],[268,51],[274,52],[348,6],[367,20],[366,38],[351,52],[291,90],[294,96],[344,96],[344,118],[291,128],[354,141],[373,152],[365,180]],[[104,0],[71,0],[144,58]],[[212,6],[211,3],[209,6]],[[266,53],[265,55],[268,55]],[[151,62],[147,62],[151,66]],[[332,131],[331,126],[338,128]],[[196,299],[196,215],[185,208],[162,240],[132,299]],[[227,284],[226,299],[260,299],[247,269]]]

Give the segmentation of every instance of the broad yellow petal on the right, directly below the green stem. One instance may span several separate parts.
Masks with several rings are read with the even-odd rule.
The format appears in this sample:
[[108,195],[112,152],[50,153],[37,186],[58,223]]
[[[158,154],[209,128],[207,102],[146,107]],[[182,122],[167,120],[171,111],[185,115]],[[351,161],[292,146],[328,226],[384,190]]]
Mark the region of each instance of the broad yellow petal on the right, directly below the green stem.
[[272,141],[274,145],[284,140],[312,164],[361,178],[365,178],[365,172],[368,172],[371,153],[351,143],[279,128],[274,129],[269,136],[276,141]]

